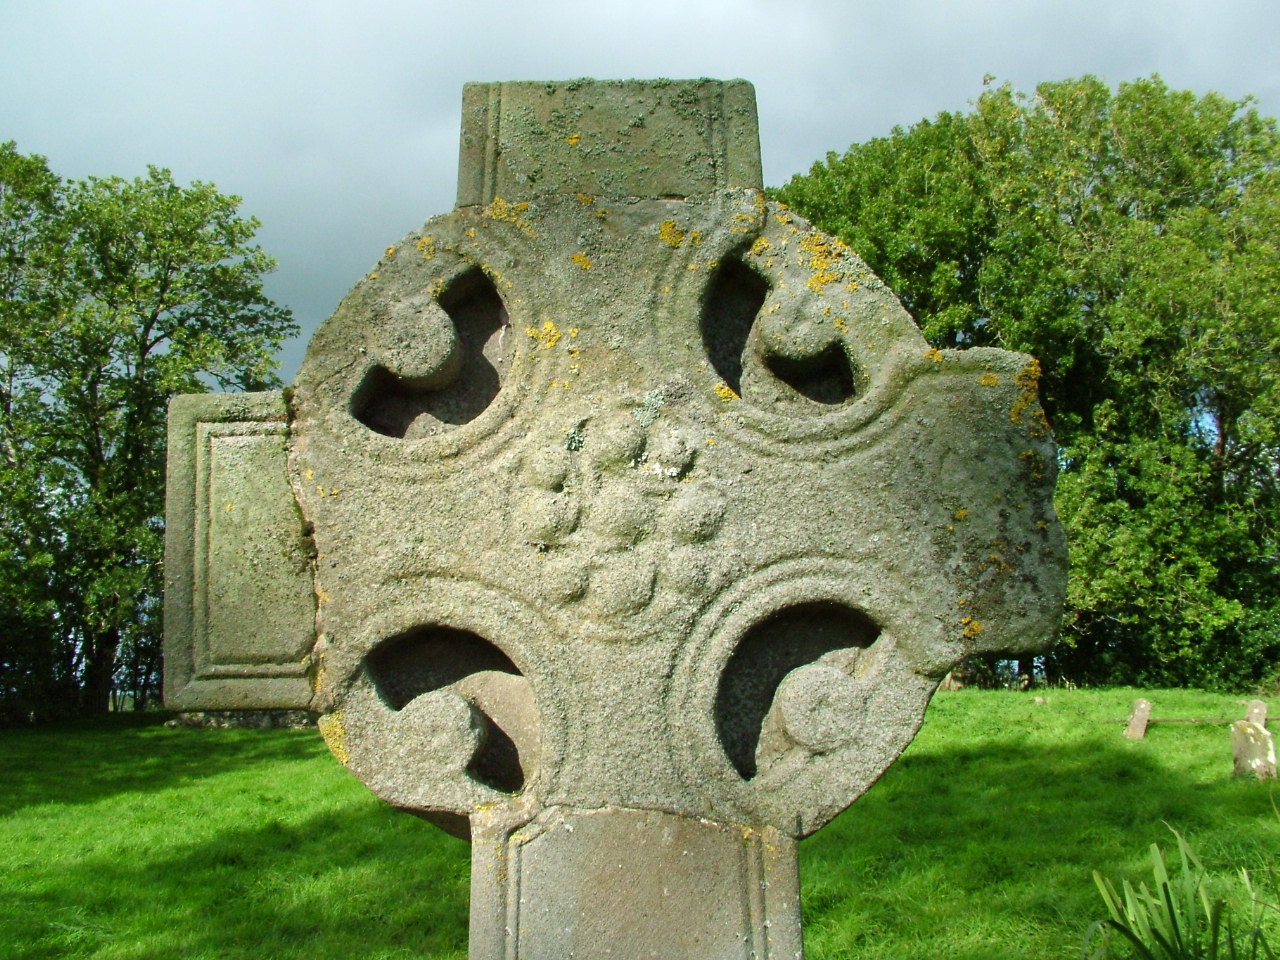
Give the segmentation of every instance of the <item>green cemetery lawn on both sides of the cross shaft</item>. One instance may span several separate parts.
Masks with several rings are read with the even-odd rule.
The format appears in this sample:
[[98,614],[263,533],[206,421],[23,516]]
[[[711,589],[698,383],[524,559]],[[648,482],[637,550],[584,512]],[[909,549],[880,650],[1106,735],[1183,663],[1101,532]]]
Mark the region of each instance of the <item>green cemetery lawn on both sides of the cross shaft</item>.
[[[1103,915],[1092,872],[1149,882],[1170,827],[1224,892],[1247,868],[1280,902],[1280,787],[1231,778],[1226,723],[1126,741],[1111,721],[1137,696],[1244,714],[1185,690],[938,694],[902,759],[801,844],[806,956],[1078,957]],[[376,800],[315,731],[163,719],[0,731],[0,959],[465,957],[463,841]]]

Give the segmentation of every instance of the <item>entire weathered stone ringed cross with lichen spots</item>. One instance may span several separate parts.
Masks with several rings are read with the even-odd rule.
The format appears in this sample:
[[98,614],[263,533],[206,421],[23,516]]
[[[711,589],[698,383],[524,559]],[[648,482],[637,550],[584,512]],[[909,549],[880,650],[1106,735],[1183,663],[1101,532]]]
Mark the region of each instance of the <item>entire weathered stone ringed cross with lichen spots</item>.
[[283,394],[170,412],[166,698],[470,836],[471,956],[795,957],[795,841],[1056,627],[1037,366],[762,192],[741,81],[479,83]]

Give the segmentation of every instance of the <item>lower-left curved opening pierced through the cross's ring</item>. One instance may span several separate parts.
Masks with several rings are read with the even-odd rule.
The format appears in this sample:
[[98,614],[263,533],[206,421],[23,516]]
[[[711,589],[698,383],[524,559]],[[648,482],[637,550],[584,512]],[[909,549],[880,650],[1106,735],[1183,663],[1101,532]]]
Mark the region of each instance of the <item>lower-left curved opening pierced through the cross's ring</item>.
[[[383,641],[365,658],[365,671],[378,695],[393,710],[434,690],[451,689],[468,699],[485,719],[483,745],[467,772],[494,790],[516,792],[536,763],[536,721],[495,716],[489,698],[477,703],[474,689],[492,686],[492,675],[522,675],[502,650],[477,634],[454,627],[415,627]],[[527,682],[527,681],[525,681]],[[517,728],[518,726],[518,728]],[[521,749],[530,741],[534,750]]]

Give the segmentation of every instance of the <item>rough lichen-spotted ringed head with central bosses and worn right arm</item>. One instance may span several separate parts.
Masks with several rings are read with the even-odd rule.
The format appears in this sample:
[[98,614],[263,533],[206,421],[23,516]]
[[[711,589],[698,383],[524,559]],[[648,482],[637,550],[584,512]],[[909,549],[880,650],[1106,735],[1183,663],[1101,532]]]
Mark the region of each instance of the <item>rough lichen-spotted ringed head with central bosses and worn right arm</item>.
[[[449,302],[458,284],[486,332],[465,362],[490,384],[465,416],[439,399],[460,381],[421,389],[385,362],[449,323],[422,292]],[[328,728],[371,777],[360,756],[399,717],[365,664],[444,627],[420,653],[394,641],[406,664],[492,649],[531,685],[543,762],[524,790],[812,832],[910,741],[947,667],[1055,627],[1034,374],[1018,355],[929,349],[851,251],[758,191],[438,218],[357,284],[298,375],[315,705],[342,712]],[[837,381],[841,398],[822,394]],[[863,689],[855,732],[797,741],[785,782],[756,778],[780,685],[828,655]],[[376,780],[422,812],[500,799],[461,774]]]

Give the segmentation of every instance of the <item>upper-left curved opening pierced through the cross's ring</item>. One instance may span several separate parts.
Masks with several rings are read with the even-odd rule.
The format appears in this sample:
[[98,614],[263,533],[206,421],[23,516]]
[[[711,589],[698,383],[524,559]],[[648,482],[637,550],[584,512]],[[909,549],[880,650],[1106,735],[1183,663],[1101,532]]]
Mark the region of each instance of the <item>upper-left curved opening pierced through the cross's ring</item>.
[[[375,433],[413,438],[468,424],[502,389],[513,339],[504,337],[507,308],[493,280],[474,268],[435,302],[454,326],[460,356],[453,362],[428,357],[430,371],[394,370],[385,362],[370,367],[351,399],[351,412]],[[402,320],[410,328],[402,326],[402,337],[412,338],[415,319]],[[424,316],[419,323],[428,321]]]

